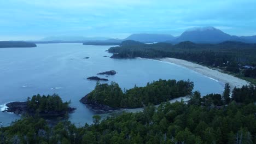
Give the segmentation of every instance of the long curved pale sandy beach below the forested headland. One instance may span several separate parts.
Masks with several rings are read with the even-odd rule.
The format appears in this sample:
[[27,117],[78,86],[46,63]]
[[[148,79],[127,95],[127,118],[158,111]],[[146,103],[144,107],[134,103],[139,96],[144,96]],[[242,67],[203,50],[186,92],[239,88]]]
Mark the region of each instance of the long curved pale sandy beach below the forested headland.
[[208,67],[202,66],[200,64],[188,62],[182,59],[176,58],[161,58],[159,61],[169,62],[177,65],[181,65],[185,68],[196,71],[197,73],[201,73],[205,76],[211,77],[212,79],[218,80],[223,83],[229,83],[231,89],[234,87],[242,87],[243,85],[249,85],[249,82],[239,79],[235,76],[221,73],[218,70],[210,69]]

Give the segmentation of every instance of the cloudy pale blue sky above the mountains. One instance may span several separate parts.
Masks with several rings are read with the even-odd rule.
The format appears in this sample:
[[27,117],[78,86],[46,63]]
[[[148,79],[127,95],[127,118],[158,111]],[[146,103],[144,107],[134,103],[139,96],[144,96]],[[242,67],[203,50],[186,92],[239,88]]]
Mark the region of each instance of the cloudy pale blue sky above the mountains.
[[231,35],[256,35],[255,5],[256,0],[1,0],[0,40],[177,36],[205,26]]

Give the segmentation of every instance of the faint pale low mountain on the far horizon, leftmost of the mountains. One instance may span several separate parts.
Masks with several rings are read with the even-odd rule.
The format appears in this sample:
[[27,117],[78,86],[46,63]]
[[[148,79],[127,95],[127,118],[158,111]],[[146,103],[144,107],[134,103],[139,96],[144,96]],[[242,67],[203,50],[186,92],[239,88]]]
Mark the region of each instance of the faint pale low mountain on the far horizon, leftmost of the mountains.
[[59,36],[59,37],[46,37],[40,41],[89,41],[89,40],[107,40],[105,37],[82,37],[82,36]]

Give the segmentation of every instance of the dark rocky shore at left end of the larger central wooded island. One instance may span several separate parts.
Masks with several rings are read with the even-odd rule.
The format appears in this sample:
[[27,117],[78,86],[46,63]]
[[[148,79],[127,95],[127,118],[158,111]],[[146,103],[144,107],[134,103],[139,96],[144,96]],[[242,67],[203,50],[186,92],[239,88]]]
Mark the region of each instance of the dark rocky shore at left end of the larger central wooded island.
[[82,99],[79,100],[81,103],[85,104],[92,111],[98,114],[113,112],[114,110],[119,110],[118,108],[113,108],[107,105],[98,104],[97,101],[91,102],[87,99],[85,95]]

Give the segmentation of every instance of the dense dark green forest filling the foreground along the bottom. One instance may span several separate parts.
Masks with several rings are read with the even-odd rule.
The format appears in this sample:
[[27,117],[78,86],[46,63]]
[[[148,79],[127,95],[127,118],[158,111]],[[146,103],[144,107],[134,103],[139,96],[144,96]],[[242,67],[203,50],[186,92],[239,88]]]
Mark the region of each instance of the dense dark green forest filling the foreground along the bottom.
[[143,112],[102,121],[94,116],[94,124],[80,128],[70,122],[50,127],[42,118],[24,117],[0,128],[0,143],[256,143],[255,86],[228,91],[226,86],[225,94],[232,93],[227,104],[224,94],[201,98],[196,91],[188,104],[148,105]]

